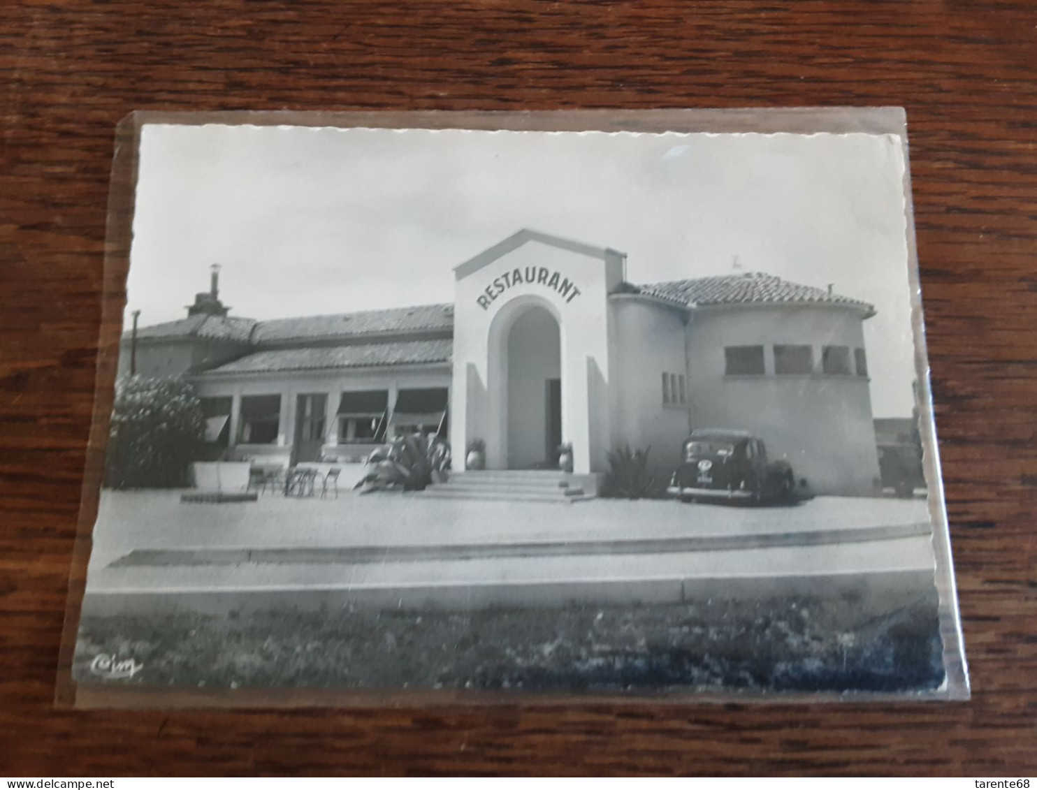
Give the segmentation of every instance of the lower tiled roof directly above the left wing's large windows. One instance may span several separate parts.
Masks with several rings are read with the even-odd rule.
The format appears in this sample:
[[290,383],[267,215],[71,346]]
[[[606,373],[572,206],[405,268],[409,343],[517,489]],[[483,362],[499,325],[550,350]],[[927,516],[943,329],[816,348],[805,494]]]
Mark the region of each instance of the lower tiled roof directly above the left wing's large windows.
[[450,338],[314,348],[280,348],[250,354],[201,375],[420,365],[448,362],[452,350],[453,340]]

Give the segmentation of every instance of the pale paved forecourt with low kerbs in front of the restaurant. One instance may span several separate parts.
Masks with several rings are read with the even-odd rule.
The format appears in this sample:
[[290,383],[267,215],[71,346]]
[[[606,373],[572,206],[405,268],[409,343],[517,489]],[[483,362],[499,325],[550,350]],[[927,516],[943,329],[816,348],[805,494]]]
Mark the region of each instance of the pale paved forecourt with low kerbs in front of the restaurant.
[[184,504],[105,491],[84,611],[672,602],[931,585],[924,500]]

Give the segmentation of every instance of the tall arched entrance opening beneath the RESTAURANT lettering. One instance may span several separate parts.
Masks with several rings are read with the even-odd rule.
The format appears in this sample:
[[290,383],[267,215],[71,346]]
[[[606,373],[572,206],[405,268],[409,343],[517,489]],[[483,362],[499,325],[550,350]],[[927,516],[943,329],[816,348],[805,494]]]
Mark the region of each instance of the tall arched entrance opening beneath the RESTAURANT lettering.
[[507,468],[555,469],[562,441],[561,331],[555,316],[526,307],[504,343]]

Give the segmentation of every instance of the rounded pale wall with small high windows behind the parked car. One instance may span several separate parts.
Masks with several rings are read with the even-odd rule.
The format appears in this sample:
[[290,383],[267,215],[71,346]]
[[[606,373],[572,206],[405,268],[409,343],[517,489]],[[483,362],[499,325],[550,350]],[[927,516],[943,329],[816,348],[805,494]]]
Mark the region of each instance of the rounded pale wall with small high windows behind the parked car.
[[[860,313],[809,305],[704,308],[693,313],[688,338],[694,427],[756,433],[768,455],[786,456],[818,492],[874,492],[878,458],[868,379],[820,372],[823,345],[864,347]],[[776,343],[811,345],[815,372],[775,375]],[[766,373],[725,375],[724,347],[732,345],[763,345]]]

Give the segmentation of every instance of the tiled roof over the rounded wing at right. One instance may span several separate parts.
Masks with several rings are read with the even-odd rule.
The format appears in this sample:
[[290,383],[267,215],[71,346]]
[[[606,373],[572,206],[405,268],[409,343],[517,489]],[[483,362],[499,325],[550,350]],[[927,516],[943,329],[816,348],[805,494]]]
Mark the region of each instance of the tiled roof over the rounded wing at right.
[[800,285],[759,272],[744,275],[700,277],[635,286],[638,291],[669,302],[689,305],[742,305],[757,303],[846,305],[874,315],[875,308],[866,302],[830,293],[823,288]]

